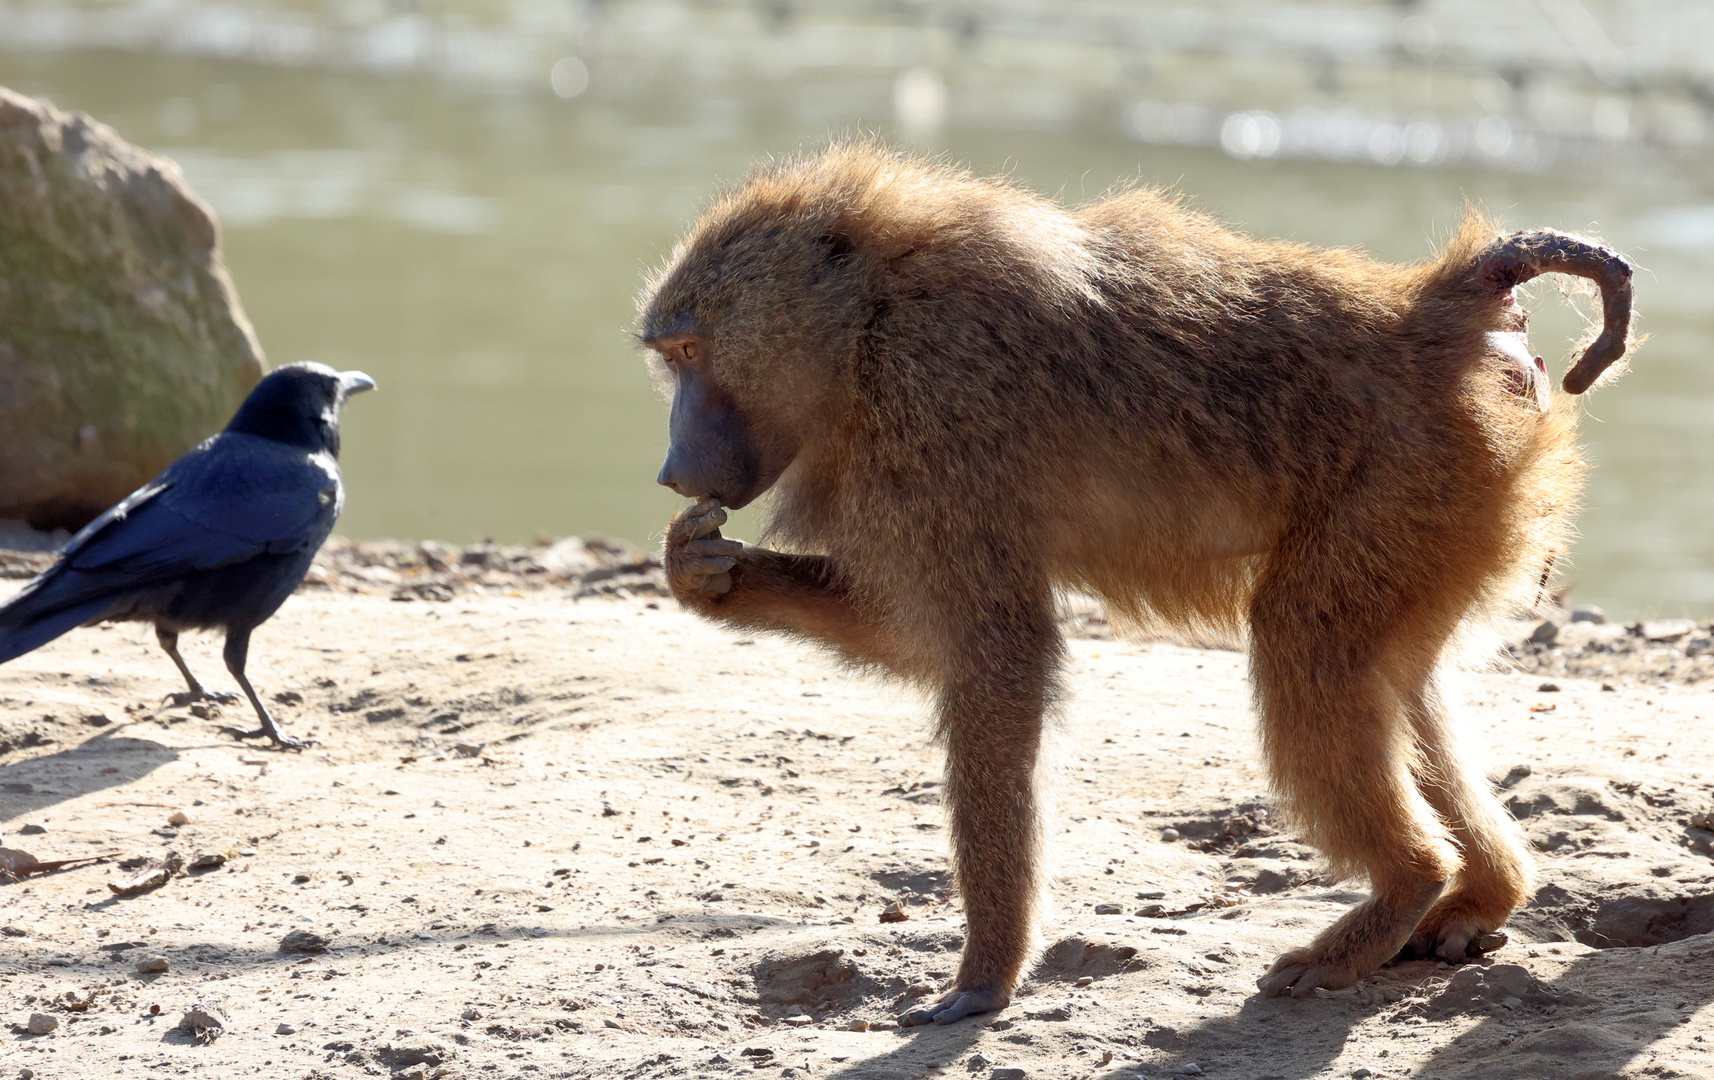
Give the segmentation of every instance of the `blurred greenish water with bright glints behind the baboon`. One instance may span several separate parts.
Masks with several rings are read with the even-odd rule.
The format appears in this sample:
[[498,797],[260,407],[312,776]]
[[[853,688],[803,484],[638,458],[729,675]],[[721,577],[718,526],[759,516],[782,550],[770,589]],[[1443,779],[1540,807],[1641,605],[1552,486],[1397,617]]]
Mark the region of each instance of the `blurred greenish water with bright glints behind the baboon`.
[[[1654,338],[1589,401],[1597,470],[1567,578],[1620,615],[1714,610],[1714,170],[1675,156],[1702,130],[1678,111],[1627,106],[1621,130],[1599,86],[1537,87],[1525,111],[1479,72],[1431,86],[1443,108],[1424,111],[1399,87],[1351,89],[1325,46],[1282,67],[1238,41],[1241,69],[1196,67],[1167,50],[1214,33],[1195,5],[1157,19],[1135,63],[1124,27],[1040,21],[965,39],[951,22],[770,29],[720,3],[615,0],[605,22],[514,5],[490,24],[360,7],[324,26],[0,0],[0,84],[182,165],[269,360],[381,382],[346,432],[351,535],[648,542],[679,501],[653,483],[665,410],[629,338],[643,273],[754,161],[881,130],[1068,202],[1164,183],[1253,233],[1387,259],[1426,255],[1465,199],[1512,226],[1599,231],[1644,267]],[[1393,36],[1376,10],[1277,33],[1388,63],[1399,41],[1459,45],[1457,27]],[[142,51],[87,48],[103,43]],[[1532,341],[1563,370],[1580,321],[1553,297],[1537,288]]]

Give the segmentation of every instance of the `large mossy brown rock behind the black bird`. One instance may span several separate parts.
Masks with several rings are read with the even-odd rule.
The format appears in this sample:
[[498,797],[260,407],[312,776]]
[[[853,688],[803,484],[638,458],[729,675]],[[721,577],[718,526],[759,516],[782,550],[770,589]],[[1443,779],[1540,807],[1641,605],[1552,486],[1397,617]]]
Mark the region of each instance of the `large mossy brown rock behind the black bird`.
[[261,377],[178,166],[0,87],[0,518],[77,528]]

